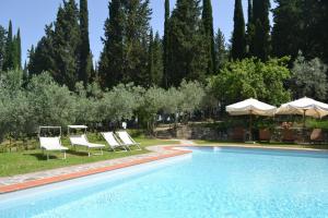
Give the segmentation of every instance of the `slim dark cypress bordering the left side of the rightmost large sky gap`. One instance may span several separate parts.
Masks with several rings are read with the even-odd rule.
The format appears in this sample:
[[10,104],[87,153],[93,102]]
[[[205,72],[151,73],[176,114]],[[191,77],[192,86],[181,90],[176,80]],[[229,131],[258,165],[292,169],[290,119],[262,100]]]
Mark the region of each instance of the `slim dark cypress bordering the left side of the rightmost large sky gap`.
[[214,49],[214,31],[211,0],[202,1],[202,23],[208,44],[208,74],[215,72],[215,49]]

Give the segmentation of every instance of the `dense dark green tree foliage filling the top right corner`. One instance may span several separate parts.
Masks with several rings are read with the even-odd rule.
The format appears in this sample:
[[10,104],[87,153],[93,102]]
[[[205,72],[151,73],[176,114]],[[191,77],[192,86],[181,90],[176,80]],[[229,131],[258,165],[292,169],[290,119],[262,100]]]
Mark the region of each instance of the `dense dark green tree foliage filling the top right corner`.
[[276,0],[273,9],[272,49],[278,57],[320,58],[328,63],[328,1]]

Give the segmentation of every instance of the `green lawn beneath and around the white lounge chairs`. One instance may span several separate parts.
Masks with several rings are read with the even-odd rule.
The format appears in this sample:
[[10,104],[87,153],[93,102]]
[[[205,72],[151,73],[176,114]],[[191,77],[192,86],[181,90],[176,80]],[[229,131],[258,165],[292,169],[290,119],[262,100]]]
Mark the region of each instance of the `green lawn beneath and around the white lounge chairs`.
[[[99,135],[90,134],[89,140],[93,143],[105,144],[104,140]],[[46,156],[42,154],[40,149],[32,149],[24,152],[12,152],[12,153],[0,153],[0,177],[8,177],[14,174],[22,174],[27,172],[35,172],[47,169],[55,169],[60,167],[68,167],[80,164],[95,162],[101,160],[108,160],[114,158],[120,158],[131,155],[139,155],[148,153],[144,149],[147,146],[151,145],[169,145],[176,144],[174,141],[161,141],[153,138],[145,138],[144,136],[134,137],[134,140],[141,143],[142,150],[132,150],[127,153],[114,153],[108,150],[108,145],[104,150],[103,156],[91,156],[87,157],[87,153],[83,148],[78,150],[70,149],[67,152],[67,159],[62,160],[62,153],[50,153],[50,160],[47,161]],[[37,144],[34,141],[31,141],[32,144]],[[62,138],[62,144],[69,148],[68,138]],[[1,146],[1,145],[0,145]],[[134,148],[134,147],[133,147]],[[97,152],[97,150],[95,150]]]

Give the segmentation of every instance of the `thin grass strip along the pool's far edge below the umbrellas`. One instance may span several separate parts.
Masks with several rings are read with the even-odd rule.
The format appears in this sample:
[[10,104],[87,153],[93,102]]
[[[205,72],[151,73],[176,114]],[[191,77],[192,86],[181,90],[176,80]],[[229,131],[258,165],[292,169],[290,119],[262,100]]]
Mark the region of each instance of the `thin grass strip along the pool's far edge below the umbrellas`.
[[247,143],[234,143],[234,142],[220,142],[220,141],[206,141],[206,140],[196,140],[194,141],[198,145],[251,145],[259,147],[285,147],[285,148],[315,148],[315,149],[328,149],[327,144],[295,144],[295,143],[256,143],[256,144],[247,144]]

